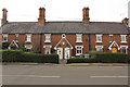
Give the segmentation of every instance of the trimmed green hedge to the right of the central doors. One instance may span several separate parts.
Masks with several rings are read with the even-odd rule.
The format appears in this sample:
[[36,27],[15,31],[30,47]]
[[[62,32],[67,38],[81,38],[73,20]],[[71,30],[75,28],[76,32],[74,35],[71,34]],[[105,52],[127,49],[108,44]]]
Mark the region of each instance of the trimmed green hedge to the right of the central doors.
[[128,55],[125,53],[95,53],[94,58],[73,58],[67,63],[128,63]]

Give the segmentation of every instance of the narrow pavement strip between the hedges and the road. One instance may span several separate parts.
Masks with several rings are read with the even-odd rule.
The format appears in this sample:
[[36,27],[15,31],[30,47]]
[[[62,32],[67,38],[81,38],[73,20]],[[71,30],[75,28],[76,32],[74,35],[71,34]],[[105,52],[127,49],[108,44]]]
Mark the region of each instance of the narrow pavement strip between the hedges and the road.
[[66,66],[128,66],[127,63],[69,63],[69,64],[54,64],[54,63],[2,63],[2,65],[66,65]]

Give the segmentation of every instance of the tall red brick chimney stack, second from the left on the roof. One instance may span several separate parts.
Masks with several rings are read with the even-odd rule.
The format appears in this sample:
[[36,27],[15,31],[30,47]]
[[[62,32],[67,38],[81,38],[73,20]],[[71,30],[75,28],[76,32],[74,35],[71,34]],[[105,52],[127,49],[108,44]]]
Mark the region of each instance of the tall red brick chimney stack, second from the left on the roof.
[[39,9],[39,18],[38,18],[38,24],[44,24],[46,23],[46,9],[40,8]]

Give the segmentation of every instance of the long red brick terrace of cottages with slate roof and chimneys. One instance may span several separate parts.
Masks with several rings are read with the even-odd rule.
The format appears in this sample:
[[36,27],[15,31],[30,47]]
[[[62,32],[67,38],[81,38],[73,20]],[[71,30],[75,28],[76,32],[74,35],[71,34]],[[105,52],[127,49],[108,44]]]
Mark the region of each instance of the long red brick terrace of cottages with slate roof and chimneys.
[[[60,59],[86,54],[91,50],[129,53],[128,18],[122,22],[90,22],[89,8],[82,9],[81,22],[46,22],[46,9],[39,9],[38,22],[8,22],[6,9],[1,20],[2,42],[9,49],[24,48]],[[129,39],[129,40],[128,40]]]

